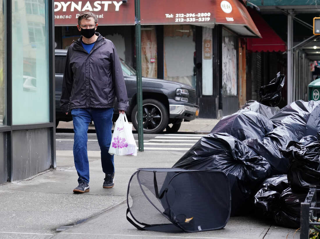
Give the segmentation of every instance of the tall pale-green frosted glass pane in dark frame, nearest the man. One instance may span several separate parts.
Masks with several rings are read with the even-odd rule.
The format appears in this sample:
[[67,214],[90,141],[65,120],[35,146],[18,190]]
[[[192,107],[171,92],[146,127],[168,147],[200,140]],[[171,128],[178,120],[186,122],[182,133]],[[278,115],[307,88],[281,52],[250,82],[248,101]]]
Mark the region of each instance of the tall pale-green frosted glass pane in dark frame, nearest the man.
[[12,0],[12,123],[50,120],[48,6]]

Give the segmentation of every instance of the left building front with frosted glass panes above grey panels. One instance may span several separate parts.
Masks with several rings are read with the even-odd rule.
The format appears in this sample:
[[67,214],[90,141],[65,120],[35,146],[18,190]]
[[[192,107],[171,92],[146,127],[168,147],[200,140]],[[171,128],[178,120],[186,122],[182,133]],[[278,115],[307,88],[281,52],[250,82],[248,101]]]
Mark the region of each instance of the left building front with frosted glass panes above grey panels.
[[0,183],[56,167],[53,6],[0,4]]

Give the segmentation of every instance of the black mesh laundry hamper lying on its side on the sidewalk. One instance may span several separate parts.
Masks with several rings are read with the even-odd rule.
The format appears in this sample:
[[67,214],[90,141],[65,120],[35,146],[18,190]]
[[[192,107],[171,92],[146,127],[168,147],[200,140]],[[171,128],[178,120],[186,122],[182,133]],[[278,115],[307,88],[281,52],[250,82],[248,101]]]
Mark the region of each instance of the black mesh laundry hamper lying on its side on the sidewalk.
[[129,181],[127,205],[127,220],[140,230],[216,230],[230,217],[230,186],[220,170],[138,168]]

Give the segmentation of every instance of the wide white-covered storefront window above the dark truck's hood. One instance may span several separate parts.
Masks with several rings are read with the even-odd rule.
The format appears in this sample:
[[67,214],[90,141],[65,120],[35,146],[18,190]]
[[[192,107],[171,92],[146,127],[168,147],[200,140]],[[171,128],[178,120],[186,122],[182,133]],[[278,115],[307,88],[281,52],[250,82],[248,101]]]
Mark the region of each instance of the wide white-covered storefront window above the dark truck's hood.
[[195,26],[164,25],[164,79],[196,88]]

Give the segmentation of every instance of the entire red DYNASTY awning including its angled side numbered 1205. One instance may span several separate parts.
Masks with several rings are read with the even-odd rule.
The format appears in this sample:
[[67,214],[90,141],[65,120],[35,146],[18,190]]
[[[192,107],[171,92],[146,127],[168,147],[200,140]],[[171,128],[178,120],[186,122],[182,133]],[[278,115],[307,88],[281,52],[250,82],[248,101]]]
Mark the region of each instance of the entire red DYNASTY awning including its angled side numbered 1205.
[[[242,1],[242,0],[241,0]],[[54,1],[55,26],[75,26],[80,12],[91,11],[99,25],[134,25],[134,0]],[[240,35],[260,37],[246,7],[239,0],[140,0],[141,25],[224,24]]]

